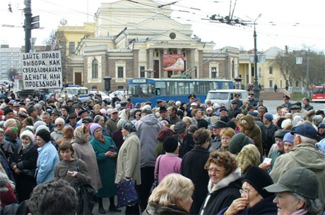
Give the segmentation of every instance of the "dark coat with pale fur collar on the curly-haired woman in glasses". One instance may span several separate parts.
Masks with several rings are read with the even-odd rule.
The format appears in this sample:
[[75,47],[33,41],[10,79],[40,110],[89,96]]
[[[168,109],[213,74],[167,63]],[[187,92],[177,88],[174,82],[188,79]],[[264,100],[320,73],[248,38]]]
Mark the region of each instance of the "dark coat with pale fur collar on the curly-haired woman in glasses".
[[242,182],[240,180],[240,168],[233,173],[212,185],[211,180],[208,183],[208,195],[204,200],[199,214],[206,215],[217,214],[221,209],[230,207],[232,201],[240,197]]

